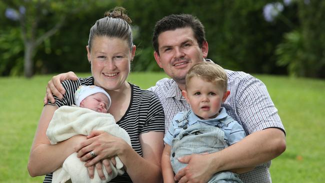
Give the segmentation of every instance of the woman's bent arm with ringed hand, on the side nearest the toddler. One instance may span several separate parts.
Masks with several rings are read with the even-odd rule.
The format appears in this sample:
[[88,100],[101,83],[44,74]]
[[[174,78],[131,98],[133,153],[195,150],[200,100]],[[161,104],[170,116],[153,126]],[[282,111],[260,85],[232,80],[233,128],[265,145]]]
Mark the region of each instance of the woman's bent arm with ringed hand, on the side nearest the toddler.
[[163,150],[163,132],[149,131],[139,135],[142,157],[122,138],[104,131],[92,131],[90,138],[77,146],[80,160],[90,159],[89,151],[96,156],[86,166],[99,159],[117,155],[133,182],[162,182],[160,158]]

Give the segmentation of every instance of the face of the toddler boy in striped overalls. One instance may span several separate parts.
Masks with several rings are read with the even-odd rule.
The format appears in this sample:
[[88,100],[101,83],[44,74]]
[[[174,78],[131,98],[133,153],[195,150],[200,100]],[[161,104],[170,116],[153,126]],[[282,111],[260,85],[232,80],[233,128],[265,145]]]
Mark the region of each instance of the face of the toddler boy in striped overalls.
[[219,114],[224,92],[213,82],[193,76],[186,88],[186,100],[193,112],[202,119]]

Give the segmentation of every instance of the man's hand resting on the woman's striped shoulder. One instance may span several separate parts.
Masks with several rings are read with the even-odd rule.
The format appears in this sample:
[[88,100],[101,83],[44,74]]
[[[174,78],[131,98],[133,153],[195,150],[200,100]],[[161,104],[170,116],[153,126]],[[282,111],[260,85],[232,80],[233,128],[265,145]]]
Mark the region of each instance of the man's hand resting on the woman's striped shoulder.
[[47,82],[46,86],[46,93],[44,96],[44,104],[47,103],[47,100],[50,100],[51,103],[55,102],[55,99],[53,95],[57,96],[59,99],[63,98],[63,94],[65,93],[65,90],[61,84],[63,80],[77,80],[77,76],[74,72],[69,71],[65,73],[60,73],[58,75],[54,75],[51,80]]

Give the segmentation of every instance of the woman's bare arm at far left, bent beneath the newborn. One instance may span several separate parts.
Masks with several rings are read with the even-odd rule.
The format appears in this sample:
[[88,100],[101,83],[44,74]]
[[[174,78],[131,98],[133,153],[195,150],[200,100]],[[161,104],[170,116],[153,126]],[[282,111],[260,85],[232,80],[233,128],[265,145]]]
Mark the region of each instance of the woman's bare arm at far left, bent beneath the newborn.
[[47,104],[40,115],[27,166],[30,176],[53,172],[62,165],[68,155],[75,151],[73,146],[85,139],[83,135],[76,135],[55,145],[49,143],[46,129],[57,108],[56,105]]

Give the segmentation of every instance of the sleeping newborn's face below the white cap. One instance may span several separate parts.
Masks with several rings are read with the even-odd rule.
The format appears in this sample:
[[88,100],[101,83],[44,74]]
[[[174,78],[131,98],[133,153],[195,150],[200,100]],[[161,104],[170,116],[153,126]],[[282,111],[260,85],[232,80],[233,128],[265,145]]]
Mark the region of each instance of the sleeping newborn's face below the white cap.
[[94,93],[80,102],[80,107],[106,113],[108,110],[108,97],[104,93]]

